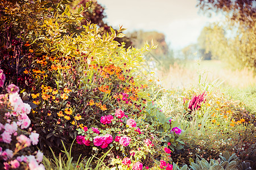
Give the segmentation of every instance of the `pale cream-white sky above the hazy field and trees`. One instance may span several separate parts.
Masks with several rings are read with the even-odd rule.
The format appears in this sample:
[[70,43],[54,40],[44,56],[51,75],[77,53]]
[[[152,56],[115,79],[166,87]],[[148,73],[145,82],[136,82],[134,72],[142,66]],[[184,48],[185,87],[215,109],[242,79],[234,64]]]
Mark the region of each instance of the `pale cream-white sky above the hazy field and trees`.
[[105,22],[128,32],[142,29],[166,35],[172,49],[195,43],[207,23],[220,20],[208,18],[196,8],[196,0],[98,0],[105,7]]

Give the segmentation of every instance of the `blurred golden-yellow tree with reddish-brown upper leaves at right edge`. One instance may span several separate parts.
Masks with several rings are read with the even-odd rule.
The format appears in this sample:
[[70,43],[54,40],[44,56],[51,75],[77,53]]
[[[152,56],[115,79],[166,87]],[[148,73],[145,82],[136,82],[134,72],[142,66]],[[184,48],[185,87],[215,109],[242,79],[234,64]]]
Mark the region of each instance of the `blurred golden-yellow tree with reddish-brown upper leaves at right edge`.
[[[208,27],[207,49],[235,67],[249,67],[256,73],[256,1],[199,0],[203,11],[224,12],[226,22]],[[228,36],[225,31],[232,32]]]

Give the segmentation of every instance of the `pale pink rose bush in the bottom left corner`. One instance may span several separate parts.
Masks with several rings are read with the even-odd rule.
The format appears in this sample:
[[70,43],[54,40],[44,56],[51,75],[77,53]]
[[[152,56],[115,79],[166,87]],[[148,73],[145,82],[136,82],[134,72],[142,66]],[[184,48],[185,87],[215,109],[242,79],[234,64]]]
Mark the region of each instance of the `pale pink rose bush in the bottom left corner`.
[[[0,73],[2,70],[0,69]],[[0,82],[4,82],[1,76]],[[3,83],[2,83],[3,84]],[[38,144],[39,134],[31,131],[30,105],[23,103],[14,84],[7,87],[8,94],[0,95],[0,167],[4,169],[44,169],[40,164],[43,154],[32,152],[31,146]]]

